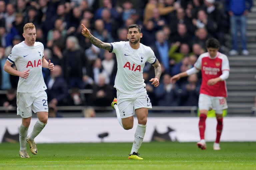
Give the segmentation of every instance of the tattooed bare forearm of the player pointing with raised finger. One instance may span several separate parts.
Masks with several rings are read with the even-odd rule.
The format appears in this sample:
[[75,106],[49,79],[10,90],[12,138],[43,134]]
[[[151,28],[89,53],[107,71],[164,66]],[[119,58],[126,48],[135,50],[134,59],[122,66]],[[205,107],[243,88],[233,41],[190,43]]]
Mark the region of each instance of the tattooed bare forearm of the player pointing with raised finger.
[[93,45],[111,51],[112,46],[110,45],[110,43],[102,42],[99,39],[95,38],[83,24],[82,26],[82,35],[88,38]]

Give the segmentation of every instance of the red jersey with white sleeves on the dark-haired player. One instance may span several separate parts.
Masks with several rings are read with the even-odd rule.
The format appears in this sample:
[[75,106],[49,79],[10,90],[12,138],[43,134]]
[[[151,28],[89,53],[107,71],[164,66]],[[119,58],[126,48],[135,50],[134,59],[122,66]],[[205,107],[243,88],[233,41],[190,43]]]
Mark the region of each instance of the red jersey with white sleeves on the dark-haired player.
[[202,72],[202,84],[200,94],[206,94],[214,97],[227,97],[226,81],[220,81],[213,86],[207,85],[208,80],[217,78],[223,70],[229,71],[228,57],[220,52],[216,57],[211,58],[208,52],[201,54],[195,65]]

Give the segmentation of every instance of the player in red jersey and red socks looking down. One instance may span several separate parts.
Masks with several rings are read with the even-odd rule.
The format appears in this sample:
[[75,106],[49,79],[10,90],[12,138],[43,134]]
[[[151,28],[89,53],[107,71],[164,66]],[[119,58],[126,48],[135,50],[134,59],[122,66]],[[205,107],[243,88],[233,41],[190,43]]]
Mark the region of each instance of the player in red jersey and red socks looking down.
[[210,38],[206,42],[207,51],[199,56],[193,68],[179,73],[171,78],[172,83],[175,83],[181,77],[186,77],[199,72],[202,73],[202,84],[199,95],[199,133],[200,141],[197,146],[201,149],[206,149],[204,139],[205,120],[207,112],[212,108],[215,110],[217,118],[217,136],[213,144],[214,150],[220,150],[220,136],[223,128],[222,112],[227,109],[227,87],[225,80],[229,76],[229,62],[226,55],[218,52],[220,43],[215,38]]

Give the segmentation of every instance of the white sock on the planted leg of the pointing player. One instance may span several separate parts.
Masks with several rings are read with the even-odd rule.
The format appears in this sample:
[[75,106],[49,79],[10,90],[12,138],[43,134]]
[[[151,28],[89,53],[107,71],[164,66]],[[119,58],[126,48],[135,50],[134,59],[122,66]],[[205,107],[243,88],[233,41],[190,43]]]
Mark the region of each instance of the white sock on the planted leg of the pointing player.
[[134,134],[134,142],[132,144],[131,154],[133,154],[133,152],[138,152],[138,150],[142,144],[143,138],[145,136],[146,127],[147,127],[147,125],[138,124],[137,129]]

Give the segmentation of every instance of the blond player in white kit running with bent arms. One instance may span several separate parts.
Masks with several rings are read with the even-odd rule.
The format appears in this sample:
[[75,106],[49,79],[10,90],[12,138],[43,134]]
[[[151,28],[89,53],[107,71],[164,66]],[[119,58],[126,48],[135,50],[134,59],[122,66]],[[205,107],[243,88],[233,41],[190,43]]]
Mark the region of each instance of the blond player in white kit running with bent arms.
[[[15,45],[7,61],[4,70],[19,76],[17,87],[17,115],[22,117],[22,124],[19,128],[20,136],[20,157],[29,158],[26,149],[26,140],[29,143],[30,151],[37,154],[37,147],[34,138],[42,131],[48,120],[47,95],[42,75],[42,67],[54,70],[54,65],[44,59],[44,46],[36,42],[36,28],[33,23],[25,24],[23,28],[25,41]],[[15,63],[17,70],[11,65]],[[32,111],[37,114],[38,121],[34,125],[29,136]]]

